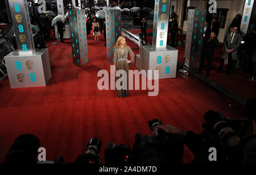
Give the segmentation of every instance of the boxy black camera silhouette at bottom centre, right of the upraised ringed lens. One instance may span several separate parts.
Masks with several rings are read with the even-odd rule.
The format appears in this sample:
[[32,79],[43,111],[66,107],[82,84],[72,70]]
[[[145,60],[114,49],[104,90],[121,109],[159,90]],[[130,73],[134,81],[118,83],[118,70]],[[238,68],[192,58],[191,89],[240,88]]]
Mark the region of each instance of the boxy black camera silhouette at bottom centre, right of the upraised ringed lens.
[[125,164],[131,161],[131,148],[125,144],[108,143],[105,148],[106,164]]

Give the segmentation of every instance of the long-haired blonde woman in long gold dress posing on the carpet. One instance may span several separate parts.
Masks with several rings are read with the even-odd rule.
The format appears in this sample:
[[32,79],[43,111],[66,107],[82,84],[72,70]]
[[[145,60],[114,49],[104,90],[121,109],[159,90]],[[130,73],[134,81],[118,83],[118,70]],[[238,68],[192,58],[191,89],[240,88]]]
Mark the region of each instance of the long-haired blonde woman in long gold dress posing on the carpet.
[[[117,89],[117,95],[118,97],[126,97],[129,95],[129,65],[134,63],[134,53],[131,48],[126,45],[125,37],[123,36],[119,36],[114,48],[115,71],[125,70],[127,76],[126,82],[121,82],[121,86],[123,83],[126,83],[126,88],[121,90]],[[131,60],[127,60],[128,53],[130,54]],[[121,77],[117,77],[116,81],[118,81],[119,78]]]

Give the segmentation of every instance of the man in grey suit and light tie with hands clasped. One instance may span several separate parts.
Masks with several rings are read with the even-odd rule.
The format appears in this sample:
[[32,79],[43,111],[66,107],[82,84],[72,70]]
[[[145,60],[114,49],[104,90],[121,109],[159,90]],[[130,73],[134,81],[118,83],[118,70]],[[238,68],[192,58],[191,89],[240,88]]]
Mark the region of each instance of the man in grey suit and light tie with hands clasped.
[[217,72],[220,72],[223,69],[224,61],[228,59],[228,72],[226,74],[229,76],[233,66],[236,65],[236,61],[238,59],[238,48],[241,45],[241,34],[238,33],[237,25],[234,25],[231,28],[231,31],[226,34],[223,45],[224,51],[221,56],[220,67]]

